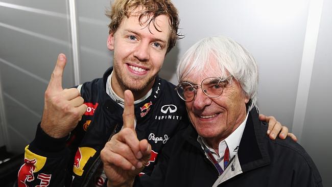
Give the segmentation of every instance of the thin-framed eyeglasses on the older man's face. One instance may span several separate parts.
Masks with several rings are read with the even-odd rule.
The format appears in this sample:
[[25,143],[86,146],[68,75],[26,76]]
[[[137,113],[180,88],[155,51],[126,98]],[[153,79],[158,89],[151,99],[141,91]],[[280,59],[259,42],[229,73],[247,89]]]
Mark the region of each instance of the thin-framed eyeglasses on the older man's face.
[[198,87],[202,88],[203,93],[209,98],[218,98],[224,90],[224,87],[230,83],[233,76],[228,76],[225,79],[218,77],[208,77],[204,79],[201,85],[193,85],[189,82],[180,82],[176,86],[176,91],[180,98],[186,102],[194,100]]

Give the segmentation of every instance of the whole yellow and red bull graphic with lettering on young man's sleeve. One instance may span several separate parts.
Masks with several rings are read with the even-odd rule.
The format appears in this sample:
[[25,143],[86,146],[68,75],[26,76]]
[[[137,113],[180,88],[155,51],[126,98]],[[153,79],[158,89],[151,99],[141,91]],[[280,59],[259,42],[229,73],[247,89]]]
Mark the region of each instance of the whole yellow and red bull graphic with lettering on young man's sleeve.
[[[34,173],[40,171],[46,162],[46,157],[34,154],[29,150],[29,145],[25,148],[24,163],[20,167],[17,174],[18,187],[27,187],[27,182],[35,180]],[[48,177],[44,177],[48,176]],[[40,179],[40,185],[37,186],[48,186],[51,180],[51,175],[40,173],[37,176]]]

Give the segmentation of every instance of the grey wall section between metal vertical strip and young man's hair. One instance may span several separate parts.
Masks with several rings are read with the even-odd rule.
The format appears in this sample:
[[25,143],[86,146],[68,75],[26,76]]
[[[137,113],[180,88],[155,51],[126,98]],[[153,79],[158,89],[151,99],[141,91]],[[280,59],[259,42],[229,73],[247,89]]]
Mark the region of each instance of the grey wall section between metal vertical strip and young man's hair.
[[112,53],[106,47],[109,18],[105,15],[109,0],[77,2],[81,82],[102,77],[112,63]]

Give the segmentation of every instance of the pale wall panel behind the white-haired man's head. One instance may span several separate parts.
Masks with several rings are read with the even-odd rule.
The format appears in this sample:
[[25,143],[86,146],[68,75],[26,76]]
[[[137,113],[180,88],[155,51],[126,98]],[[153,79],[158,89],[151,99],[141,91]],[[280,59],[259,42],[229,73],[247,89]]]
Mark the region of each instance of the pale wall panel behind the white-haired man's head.
[[[259,66],[258,105],[292,127],[309,1],[174,1],[180,12],[178,59],[205,36],[226,35],[243,44]],[[175,71],[165,62],[163,71]],[[167,73],[165,73],[167,74]],[[176,83],[176,77],[171,79]]]

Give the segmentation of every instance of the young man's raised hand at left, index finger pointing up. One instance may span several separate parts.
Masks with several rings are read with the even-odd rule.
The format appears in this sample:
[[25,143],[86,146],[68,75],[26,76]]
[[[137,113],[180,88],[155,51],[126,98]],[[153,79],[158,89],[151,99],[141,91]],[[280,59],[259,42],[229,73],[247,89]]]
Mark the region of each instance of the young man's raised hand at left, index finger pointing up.
[[59,54],[44,96],[44,110],[40,126],[45,133],[54,138],[61,138],[69,134],[82,119],[82,115],[87,109],[77,88],[62,88],[62,74],[65,65],[66,56]]

